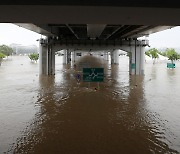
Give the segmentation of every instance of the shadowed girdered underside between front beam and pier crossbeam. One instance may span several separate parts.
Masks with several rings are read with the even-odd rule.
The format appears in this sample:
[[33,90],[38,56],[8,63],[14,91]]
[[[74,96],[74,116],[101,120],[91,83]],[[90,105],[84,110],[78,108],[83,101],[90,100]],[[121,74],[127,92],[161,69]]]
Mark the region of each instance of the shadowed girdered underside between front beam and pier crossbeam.
[[119,25],[119,24],[23,24],[16,25],[59,40],[124,40],[172,28],[173,26]]

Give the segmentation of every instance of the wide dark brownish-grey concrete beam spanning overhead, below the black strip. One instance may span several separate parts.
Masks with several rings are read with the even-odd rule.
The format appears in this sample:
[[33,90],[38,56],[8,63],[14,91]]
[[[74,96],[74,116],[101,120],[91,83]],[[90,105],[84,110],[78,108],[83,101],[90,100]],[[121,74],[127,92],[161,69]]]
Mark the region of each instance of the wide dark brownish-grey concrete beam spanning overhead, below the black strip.
[[180,25],[179,16],[179,8],[18,5],[17,3],[0,5],[0,22],[7,23],[177,26]]

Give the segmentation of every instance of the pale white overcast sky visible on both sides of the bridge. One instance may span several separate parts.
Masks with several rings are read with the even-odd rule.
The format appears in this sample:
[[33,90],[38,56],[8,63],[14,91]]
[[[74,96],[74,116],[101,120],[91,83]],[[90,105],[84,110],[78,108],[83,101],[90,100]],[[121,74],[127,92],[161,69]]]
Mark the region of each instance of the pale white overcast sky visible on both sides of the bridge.
[[[0,24],[0,45],[17,43],[22,45],[38,45],[36,41],[40,34],[26,30],[14,24]],[[149,37],[151,48],[180,48],[180,27],[175,27],[162,32],[151,34]]]

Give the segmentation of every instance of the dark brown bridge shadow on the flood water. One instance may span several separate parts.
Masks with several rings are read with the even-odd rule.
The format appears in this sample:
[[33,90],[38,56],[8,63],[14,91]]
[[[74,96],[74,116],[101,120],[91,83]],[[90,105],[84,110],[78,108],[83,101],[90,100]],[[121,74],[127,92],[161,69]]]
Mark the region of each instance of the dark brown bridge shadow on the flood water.
[[[126,65],[121,64],[120,65]],[[14,153],[177,153],[157,131],[146,108],[144,77],[128,66],[86,56],[63,65],[56,76],[40,76],[39,112],[22,133]],[[78,82],[83,67],[103,67],[103,83]]]

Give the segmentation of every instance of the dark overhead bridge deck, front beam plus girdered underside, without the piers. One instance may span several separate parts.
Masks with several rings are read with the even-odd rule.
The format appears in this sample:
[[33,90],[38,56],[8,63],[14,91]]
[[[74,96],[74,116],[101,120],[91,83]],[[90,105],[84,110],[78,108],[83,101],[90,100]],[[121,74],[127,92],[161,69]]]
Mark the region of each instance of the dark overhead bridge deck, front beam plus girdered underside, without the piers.
[[0,22],[59,39],[120,40],[180,25],[180,6],[172,1],[9,0],[0,4]]

